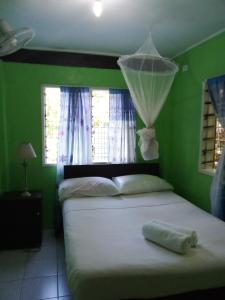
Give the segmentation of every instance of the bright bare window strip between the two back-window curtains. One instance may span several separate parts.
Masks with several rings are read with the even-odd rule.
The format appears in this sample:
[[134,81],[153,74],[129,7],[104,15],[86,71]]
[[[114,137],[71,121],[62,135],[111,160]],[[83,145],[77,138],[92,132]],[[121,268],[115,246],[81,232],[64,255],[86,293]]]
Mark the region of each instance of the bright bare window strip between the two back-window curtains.
[[109,91],[92,90],[92,159],[108,162]]

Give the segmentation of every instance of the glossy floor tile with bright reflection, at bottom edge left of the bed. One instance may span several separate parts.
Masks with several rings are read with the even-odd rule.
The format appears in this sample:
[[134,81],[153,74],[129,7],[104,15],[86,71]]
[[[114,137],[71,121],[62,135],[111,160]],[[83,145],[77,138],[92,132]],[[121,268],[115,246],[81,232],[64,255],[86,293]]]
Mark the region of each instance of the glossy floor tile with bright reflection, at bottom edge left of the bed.
[[57,297],[57,276],[26,279],[22,283],[20,300],[40,300]]

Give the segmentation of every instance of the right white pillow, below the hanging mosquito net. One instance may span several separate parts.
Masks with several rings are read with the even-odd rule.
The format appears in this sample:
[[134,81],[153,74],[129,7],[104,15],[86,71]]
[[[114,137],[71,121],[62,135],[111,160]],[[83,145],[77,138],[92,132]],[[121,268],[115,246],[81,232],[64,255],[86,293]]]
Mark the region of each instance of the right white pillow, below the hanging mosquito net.
[[121,194],[140,194],[173,190],[166,180],[153,175],[134,174],[114,177],[113,181]]

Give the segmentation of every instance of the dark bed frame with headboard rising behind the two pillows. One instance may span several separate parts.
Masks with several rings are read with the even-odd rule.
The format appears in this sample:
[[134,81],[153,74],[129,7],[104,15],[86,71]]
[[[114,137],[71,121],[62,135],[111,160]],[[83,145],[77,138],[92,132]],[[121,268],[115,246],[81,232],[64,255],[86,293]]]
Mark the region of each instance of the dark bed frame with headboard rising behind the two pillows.
[[[64,179],[101,176],[112,178],[115,176],[131,174],[160,175],[158,163],[132,163],[132,164],[97,164],[97,165],[67,165],[64,166]],[[199,290],[167,297],[149,300],[225,300],[225,287],[208,290]],[[129,299],[141,300],[141,299]]]

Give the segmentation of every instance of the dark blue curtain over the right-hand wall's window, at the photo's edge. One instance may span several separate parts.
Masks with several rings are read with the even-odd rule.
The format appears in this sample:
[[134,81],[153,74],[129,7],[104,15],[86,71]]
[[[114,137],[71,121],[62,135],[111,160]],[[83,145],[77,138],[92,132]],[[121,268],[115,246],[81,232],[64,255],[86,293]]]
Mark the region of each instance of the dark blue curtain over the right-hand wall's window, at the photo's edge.
[[[225,76],[207,80],[215,114],[225,128]],[[225,221],[225,149],[220,157],[211,186],[211,208],[214,216]]]

